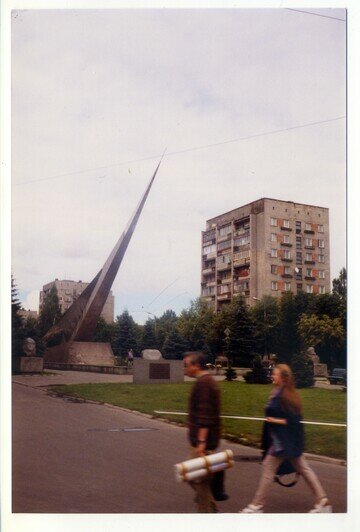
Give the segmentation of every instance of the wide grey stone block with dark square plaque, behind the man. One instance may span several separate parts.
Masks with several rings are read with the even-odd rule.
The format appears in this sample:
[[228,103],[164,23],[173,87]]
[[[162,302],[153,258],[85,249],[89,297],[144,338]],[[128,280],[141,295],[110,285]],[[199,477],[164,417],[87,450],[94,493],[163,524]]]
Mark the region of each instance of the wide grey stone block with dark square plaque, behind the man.
[[134,359],[134,384],[169,384],[184,382],[184,362],[182,360]]

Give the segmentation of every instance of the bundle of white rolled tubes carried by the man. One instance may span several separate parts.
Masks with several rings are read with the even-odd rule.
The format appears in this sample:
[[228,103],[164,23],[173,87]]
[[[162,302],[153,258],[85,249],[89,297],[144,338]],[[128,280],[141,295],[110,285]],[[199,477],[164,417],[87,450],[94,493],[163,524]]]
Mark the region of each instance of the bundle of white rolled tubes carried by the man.
[[206,477],[211,473],[228,469],[234,465],[233,452],[226,449],[220,453],[209,454],[193,458],[176,464],[175,477],[178,482],[189,482],[202,477]]

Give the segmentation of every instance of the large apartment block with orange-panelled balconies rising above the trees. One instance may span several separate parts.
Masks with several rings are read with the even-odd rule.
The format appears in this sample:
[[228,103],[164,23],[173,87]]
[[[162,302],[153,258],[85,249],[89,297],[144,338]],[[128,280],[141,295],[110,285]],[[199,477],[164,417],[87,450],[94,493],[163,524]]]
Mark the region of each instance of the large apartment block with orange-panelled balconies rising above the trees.
[[262,198],[206,222],[201,298],[214,310],[241,294],[330,292],[329,209]]

